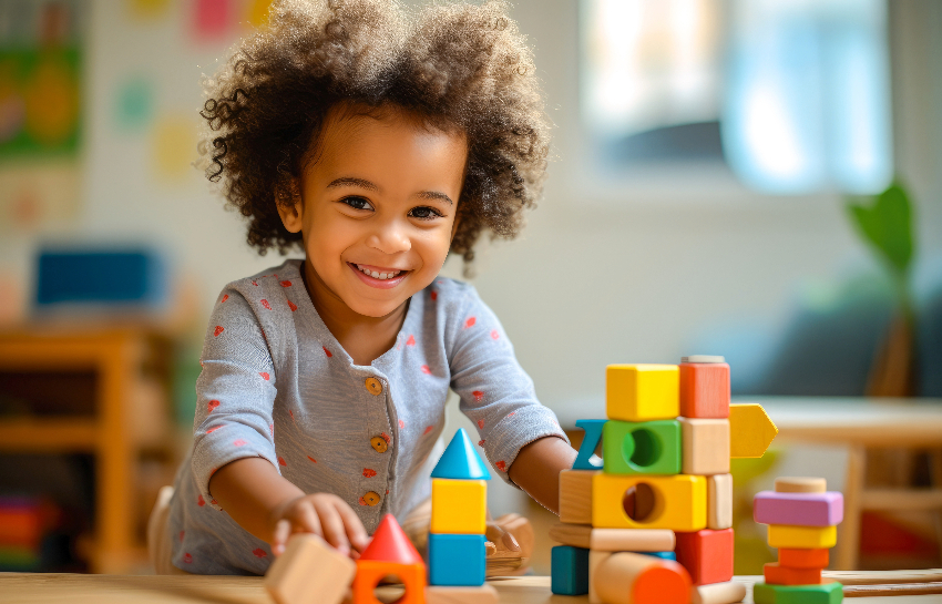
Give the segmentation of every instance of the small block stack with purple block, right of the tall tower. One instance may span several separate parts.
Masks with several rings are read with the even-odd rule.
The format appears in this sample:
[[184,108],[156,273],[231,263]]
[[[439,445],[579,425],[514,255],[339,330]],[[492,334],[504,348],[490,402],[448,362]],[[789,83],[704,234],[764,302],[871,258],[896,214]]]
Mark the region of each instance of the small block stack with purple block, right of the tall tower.
[[752,501],[752,518],[769,525],[768,541],[778,547],[778,563],[765,565],[766,582],[757,583],[756,604],[838,604],[842,586],[822,582],[828,550],[837,544],[843,520],[843,495],[827,491],[821,478],[779,478],[775,491]]

